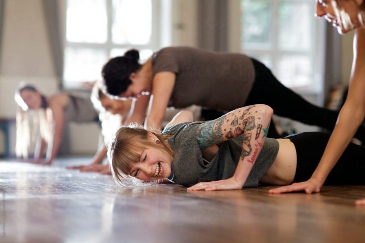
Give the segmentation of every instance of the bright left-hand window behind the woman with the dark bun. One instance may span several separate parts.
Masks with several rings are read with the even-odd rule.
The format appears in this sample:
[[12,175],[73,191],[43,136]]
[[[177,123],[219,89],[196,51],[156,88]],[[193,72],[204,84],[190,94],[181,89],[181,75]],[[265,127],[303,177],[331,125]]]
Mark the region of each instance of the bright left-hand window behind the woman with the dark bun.
[[130,48],[146,59],[159,47],[158,1],[67,0],[63,84],[100,79],[102,65]]

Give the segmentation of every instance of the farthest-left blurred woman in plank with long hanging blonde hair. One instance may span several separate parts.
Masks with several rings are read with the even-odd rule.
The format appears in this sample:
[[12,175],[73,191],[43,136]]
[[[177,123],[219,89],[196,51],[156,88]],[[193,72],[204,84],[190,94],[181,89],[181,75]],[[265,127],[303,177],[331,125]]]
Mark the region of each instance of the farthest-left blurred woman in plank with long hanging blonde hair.
[[[34,156],[30,162],[52,163],[60,150],[64,128],[69,121],[97,122],[97,112],[88,97],[65,92],[44,96],[33,85],[21,84],[15,92],[15,101],[18,104],[16,155],[27,159],[30,143],[35,140]],[[31,134],[30,124],[33,126]],[[68,145],[68,142],[64,145]],[[46,147],[46,156],[42,158]]]

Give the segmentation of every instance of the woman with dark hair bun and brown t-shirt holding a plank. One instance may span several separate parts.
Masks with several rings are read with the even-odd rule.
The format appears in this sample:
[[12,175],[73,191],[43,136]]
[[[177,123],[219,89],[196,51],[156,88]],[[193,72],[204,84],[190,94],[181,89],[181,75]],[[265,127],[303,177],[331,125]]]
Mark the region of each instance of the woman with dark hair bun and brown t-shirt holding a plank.
[[[337,111],[305,101],[282,85],[264,64],[241,53],[166,47],[140,64],[138,51],[129,50],[110,59],[102,76],[112,98],[137,99],[127,124],[146,117],[145,127],[156,129],[162,127],[166,107],[189,105],[224,114],[242,106],[266,104],[276,115],[330,131],[338,116]],[[270,124],[269,136],[280,137]],[[356,137],[365,140],[364,127]]]

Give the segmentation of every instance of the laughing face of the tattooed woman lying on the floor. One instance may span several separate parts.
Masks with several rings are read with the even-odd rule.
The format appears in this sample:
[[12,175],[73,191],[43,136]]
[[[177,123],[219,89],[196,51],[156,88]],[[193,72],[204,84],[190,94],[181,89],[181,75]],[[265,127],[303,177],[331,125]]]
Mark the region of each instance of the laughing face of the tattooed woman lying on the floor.
[[[150,134],[148,139],[155,143],[157,138]],[[142,181],[167,178],[171,174],[172,158],[163,150],[146,147],[136,151],[139,160],[132,163],[129,175]]]

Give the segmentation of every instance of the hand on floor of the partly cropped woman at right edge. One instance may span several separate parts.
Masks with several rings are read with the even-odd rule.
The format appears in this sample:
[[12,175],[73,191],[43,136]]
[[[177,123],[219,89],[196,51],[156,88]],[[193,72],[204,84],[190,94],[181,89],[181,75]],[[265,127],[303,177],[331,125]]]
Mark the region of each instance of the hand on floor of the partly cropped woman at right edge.
[[322,185],[315,179],[309,179],[306,182],[293,183],[288,186],[268,190],[268,193],[279,194],[279,193],[290,193],[290,192],[300,192],[300,191],[305,191],[306,194],[319,193],[321,186]]

